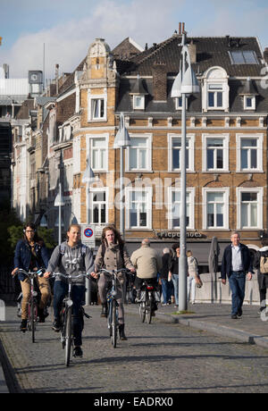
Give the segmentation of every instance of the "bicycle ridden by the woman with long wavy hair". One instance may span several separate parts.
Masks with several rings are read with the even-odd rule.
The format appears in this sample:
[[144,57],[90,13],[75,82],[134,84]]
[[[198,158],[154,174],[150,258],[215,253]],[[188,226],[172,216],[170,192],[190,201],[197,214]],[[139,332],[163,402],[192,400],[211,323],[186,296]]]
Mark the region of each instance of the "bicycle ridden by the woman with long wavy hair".
[[[108,306],[108,315],[107,315],[107,326],[110,331],[110,339],[113,345],[113,348],[116,348],[119,323],[118,323],[118,302],[115,299],[117,294],[117,274],[118,273],[130,273],[129,270],[121,268],[120,270],[111,270],[108,271],[105,268],[100,270],[100,273],[105,273],[109,275],[109,283],[107,289],[107,306]],[[123,297],[122,297],[123,298]]]

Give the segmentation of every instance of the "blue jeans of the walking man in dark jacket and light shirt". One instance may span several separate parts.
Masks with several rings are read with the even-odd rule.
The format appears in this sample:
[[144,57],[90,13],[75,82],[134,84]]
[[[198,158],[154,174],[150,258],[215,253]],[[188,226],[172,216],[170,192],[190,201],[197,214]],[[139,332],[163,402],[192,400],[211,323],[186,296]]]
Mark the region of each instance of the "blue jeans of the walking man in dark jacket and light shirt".
[[229,284],[231,290],[231,315],[237,315],[245,298],[246,273],[231,272]]

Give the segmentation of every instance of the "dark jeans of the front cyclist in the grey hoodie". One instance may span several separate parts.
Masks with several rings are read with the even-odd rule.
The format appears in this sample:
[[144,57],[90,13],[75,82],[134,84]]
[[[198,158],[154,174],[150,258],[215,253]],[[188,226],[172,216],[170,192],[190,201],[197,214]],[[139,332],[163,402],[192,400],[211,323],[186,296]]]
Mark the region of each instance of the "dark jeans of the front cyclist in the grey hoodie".
[[[54,281],[54,319],[60,319],[63,298],[68,292],[68,284],[63,281]],[[80,313],[81,302],[85,298],[85,287],[83,285],[72,285],[72,333],[74,346],[82,345],[83,318]]]

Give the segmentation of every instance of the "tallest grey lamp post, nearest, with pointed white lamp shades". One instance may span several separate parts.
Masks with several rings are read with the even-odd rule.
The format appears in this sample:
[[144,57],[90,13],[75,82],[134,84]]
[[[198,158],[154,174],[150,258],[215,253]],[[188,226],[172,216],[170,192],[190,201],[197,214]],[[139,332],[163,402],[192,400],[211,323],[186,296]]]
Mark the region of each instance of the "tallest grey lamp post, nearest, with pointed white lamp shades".
[[172,97],[182,100],[180,147],[180,258],[179,258],[179,311],[187,310],[187,256],[186,256],[186,96],[199,92],[195,72],[190,63],[185,33],[181,39],[180,71],[172,85]]

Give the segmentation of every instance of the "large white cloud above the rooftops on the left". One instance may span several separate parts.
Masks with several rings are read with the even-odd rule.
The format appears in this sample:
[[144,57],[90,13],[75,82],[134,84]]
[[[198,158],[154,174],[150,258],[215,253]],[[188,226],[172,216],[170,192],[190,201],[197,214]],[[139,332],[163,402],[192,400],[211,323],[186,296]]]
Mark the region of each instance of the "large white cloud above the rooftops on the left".
[[66,21],[52,29],[24,34],[9,52],[3,52],[0,63],[10,64],[10,75],[27,77],[29,70],[43,70],[43,47],[46,45],[46,78],[54,77],[54,65],[60,71],[73,71],[87,55],[95,38],[105,38],[113,48],[124,38],[131,37],[145,46],[171,37],[172,14],[183,0],[133,0],[130,4],[115,0],[97,3],[89,16]]

